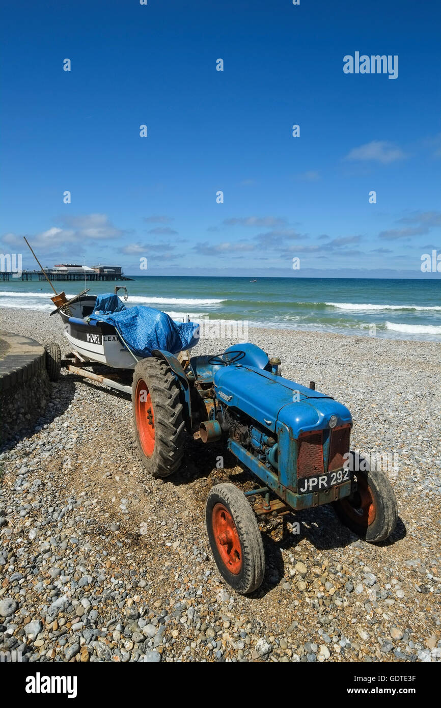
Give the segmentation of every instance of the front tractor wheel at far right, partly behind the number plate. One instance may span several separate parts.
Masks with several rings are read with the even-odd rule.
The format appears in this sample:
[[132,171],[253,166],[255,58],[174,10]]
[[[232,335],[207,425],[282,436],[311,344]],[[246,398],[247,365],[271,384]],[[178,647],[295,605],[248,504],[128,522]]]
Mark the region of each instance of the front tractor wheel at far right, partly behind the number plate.
[[[362,458],[360,458],[362,459]],[[353,472],[357,491],[333,502],[340,521],[369,543],[384,541],[396,527],[398,510],[394,490],[381,470]]]

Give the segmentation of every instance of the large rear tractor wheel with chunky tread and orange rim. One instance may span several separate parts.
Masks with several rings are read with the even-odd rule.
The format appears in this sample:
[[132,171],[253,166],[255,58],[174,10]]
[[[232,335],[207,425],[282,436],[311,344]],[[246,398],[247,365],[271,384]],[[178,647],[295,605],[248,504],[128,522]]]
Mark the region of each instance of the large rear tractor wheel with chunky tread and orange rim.
[[139,457],[149,474],[168,477],[181,467],[185,422],[180,388],[167,362],[154,357],[134,367],[134,432]]

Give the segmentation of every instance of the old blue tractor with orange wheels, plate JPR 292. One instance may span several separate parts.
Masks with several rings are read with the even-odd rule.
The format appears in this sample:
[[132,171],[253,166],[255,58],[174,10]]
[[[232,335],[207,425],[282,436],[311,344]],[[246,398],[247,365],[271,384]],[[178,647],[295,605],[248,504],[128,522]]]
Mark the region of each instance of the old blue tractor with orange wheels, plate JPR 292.
[[350,411],[313,382],[282,378],[280,360],[257,346],[189,360],[154,350],[134,368],[132,391],[139,455],[152,475],[181,467],[189,434],[202,444],[224,440],[258,480],[258,489],[246,493],[215,484],[207,498],[214,560],[238,592],[253,592],[265,574],[257,518],[332,503],[343,524],[368,542],[394,531],[389,480],[350,452]]

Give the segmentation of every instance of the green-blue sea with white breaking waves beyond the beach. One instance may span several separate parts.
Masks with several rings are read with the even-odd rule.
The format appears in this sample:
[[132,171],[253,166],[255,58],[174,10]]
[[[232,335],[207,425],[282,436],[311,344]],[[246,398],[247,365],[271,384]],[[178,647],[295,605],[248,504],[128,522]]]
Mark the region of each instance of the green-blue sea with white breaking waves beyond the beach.
[[[127,285],[127,305],[154,307],[173,319],[189,315],[196,322],[239,321],[248,327],[441,342],[441,280],[147,275],[87,283],[96,295],[113,292],[115,285]],[[55,287],[73,296],[84,283],[56,282]],[[0,308],[49,316],[54,309],[50,295],[47,282],[0,281]]]

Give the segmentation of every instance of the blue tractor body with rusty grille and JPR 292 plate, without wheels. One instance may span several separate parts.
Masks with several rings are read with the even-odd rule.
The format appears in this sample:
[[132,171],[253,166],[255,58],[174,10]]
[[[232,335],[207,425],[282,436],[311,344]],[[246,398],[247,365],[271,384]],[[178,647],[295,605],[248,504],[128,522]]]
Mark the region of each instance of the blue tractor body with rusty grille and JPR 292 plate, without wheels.
[[244,351],[231,352],[237,361],[226,360],[227,353],[224,359],[208,359],[210,374],[205,362],[198,365],[205,416],[198,437],[202,442],[227,438],[233,455],[260,479],[271,480],[293,508],[307,504],[299,495],[318,490],[323,493],[314,503],[326,503],[328,489],[350,483],[343,470],[353,424],[350,411],[316,391],[312,382],[306,387],[280,376],[275,361],[254,345],[241,347]]

